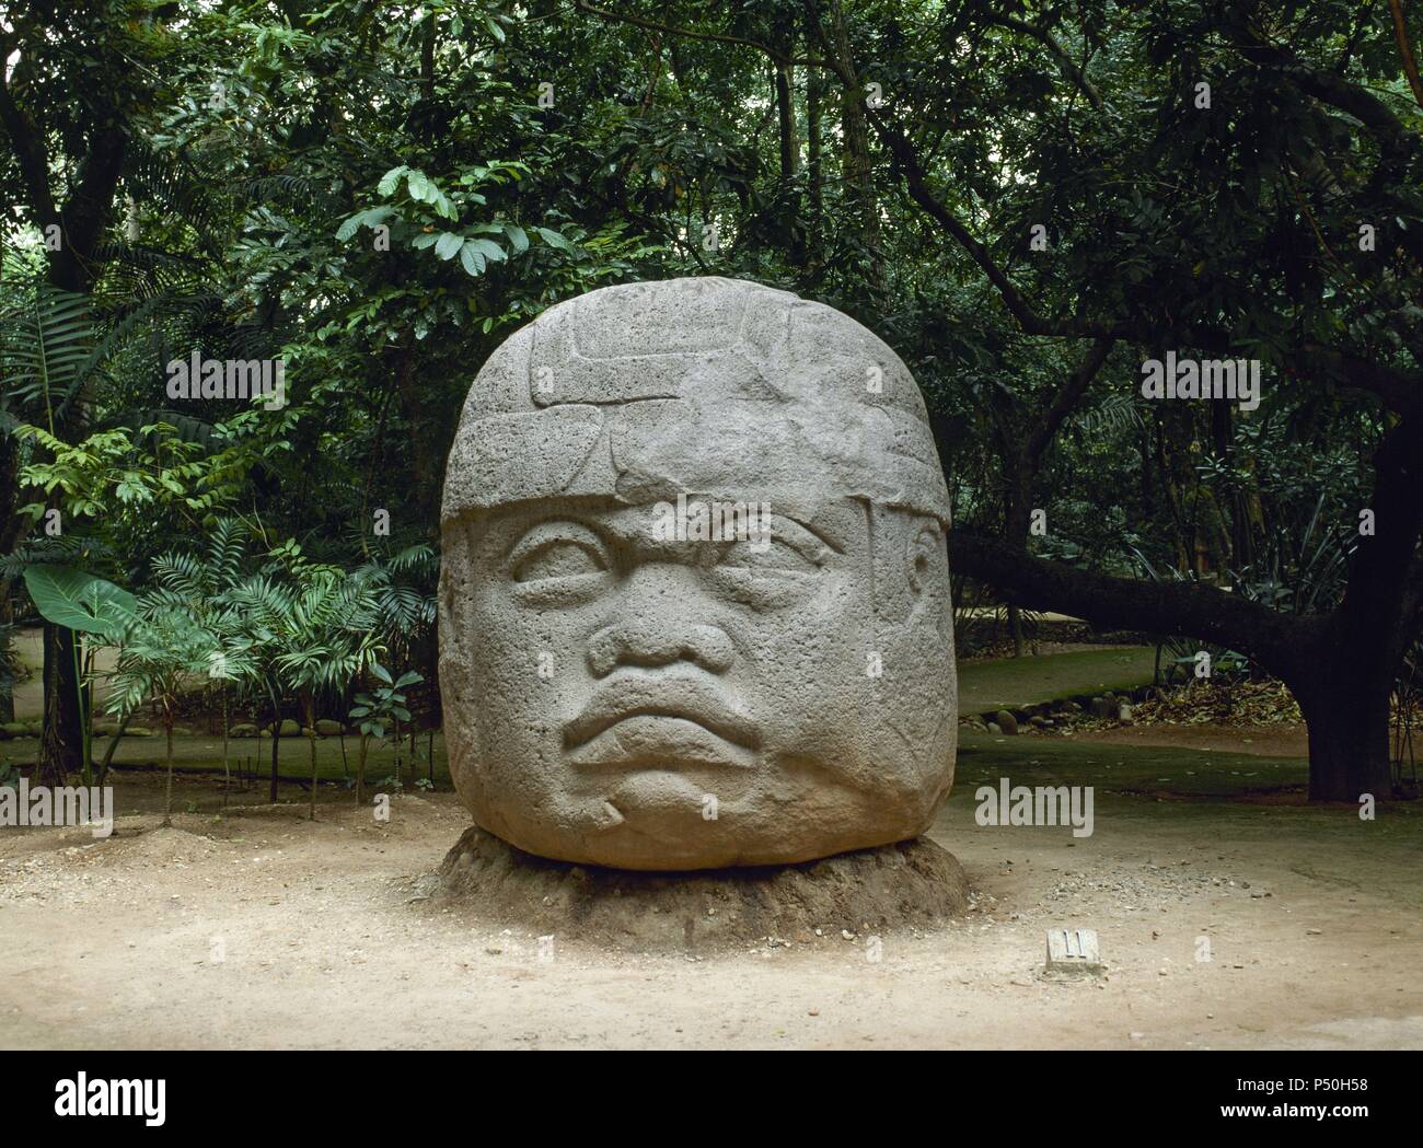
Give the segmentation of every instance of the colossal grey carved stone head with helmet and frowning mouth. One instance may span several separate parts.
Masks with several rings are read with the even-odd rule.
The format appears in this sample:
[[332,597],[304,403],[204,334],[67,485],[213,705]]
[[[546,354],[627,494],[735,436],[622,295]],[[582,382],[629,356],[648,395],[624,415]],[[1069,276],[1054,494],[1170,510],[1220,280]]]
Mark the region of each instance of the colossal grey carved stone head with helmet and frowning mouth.
[[710,277],[545,312],[480,371],[445,475],[475,822],[629,869],[916,836],[953,780],[948,519],[919,390],[848,316]]

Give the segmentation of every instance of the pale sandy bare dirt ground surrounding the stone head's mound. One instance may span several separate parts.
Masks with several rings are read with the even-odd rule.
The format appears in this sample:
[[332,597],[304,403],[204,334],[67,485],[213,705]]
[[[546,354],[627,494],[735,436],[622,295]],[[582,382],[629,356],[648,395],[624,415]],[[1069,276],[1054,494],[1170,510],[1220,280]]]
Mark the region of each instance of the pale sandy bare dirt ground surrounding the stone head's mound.
[[[154,808],[159,778],[122,784],[121,809]],[[956,792],[932,836],[978,903],[877,962],[841,922],[700,959],[541,953],[413,899],[468,824],[451,794],[396,798],[388,824],[347,801],[314,825],[253,805],[129,814],[104,841],[0,831],[0,1044],[1423,1047],[1412,815],[1107,795],[1074,841],[980,828]],[[1097,929],[1106,980],[1040,977],[1057,925]]]

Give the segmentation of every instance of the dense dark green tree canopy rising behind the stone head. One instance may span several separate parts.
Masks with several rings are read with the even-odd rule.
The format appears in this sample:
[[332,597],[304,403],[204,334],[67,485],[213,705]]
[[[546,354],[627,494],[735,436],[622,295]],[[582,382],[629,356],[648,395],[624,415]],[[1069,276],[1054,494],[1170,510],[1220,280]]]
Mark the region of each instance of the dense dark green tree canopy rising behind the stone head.
[[[320,560],[433,541],[502,339],[729,275],[905,358],[956,576],[1241,652],[1298,697],[1313,797],[1386,792],[1420,36],[1397,0],[0,0],[6,610],[46,505],[134,583],[222,514]],[[280,357],[286,405],[172,400],[194,351]],[[1144,397],[1168,356],[1258,361],[1258,405]]]

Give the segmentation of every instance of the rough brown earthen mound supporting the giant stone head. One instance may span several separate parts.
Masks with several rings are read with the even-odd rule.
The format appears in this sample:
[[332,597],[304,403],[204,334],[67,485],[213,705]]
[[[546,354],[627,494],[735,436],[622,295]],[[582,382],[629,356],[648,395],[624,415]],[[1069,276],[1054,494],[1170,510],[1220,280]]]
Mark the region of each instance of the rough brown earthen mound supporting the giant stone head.
[[801,865],[647,873],[546,861],[478,827],[433,876],[435,896],[505,925],[636,952],[926,928],[963,913],[969,889],[925,838]]

